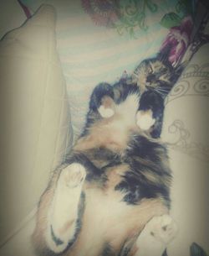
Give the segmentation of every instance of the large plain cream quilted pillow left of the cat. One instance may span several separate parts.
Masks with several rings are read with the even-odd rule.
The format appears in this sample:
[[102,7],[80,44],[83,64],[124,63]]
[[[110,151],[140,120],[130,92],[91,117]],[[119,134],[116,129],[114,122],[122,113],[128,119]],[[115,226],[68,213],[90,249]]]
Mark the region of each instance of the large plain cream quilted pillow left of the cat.
[[0,42],[0,240],[37,204],[49,173],[64,160],[72,144],[54,14],[54,8],[43,6]]

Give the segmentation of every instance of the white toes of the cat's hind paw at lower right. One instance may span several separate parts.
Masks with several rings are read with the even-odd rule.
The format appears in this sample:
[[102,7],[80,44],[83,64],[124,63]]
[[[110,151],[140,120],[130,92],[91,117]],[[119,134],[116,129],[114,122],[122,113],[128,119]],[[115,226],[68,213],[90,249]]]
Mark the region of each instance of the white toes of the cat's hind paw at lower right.
[[169,215],[153,217],[145,228],[148,228],[150,236],[164,244],[170,243],[178,231],[176,222]]

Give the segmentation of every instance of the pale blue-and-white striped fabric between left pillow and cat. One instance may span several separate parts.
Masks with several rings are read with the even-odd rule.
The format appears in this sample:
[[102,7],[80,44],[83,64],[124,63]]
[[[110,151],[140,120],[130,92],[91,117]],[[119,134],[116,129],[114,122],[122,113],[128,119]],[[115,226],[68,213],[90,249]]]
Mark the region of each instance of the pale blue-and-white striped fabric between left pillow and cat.
[[168,29],[160,24],[161,18],[166,13],[175,12],[177,0],[152,1],[157,3],[158,10],[156,13],[146,11],[148,29],[137,29],[135,38],[129,33],[120,35],[116,29],[95,25],[79,0],[22,2],[28,4],[32,12],[41,3],[53,4],[57,9],[57,46],[76,138],[84,125],[94,86],[101,81],[117,81],[124,71],[133,71],[141,60],[157,53],[168,34]]

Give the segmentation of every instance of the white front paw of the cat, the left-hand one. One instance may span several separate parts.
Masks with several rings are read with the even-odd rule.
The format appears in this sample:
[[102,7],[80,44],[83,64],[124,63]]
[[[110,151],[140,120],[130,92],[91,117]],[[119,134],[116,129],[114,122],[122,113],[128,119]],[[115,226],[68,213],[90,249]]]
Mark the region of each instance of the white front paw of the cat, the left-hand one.
[[102,118],[111,118],[115,114],[115,102],[111,97],[105,96],[101,100],[101,106],[98,108]]

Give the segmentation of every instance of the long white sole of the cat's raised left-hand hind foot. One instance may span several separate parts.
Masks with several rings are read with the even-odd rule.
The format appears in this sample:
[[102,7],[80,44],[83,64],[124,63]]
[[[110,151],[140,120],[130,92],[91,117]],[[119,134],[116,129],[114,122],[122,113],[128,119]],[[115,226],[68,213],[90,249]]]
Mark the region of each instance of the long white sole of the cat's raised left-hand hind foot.
[[66,166],[59,175],[46,233],[46,242],[54,255],[63,253],[75,237],[85,176],[85,168],[79,163]]

